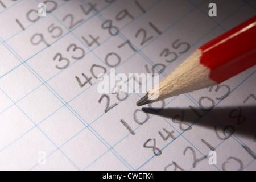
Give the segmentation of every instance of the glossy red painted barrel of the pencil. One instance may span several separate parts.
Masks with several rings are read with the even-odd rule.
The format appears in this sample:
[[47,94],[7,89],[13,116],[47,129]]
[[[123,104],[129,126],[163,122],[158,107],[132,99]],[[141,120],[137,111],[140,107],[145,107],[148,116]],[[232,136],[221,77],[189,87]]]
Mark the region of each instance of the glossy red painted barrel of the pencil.
[[204,44],[200,63],[220,84],[256,64],[256,16]]

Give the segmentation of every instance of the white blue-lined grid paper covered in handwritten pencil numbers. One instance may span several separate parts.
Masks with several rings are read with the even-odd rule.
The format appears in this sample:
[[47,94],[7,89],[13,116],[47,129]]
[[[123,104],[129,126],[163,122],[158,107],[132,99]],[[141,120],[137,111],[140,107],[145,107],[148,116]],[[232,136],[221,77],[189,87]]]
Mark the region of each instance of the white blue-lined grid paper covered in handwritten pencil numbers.
[[255,1],[214,1],[210,17],[210,3],[0,1],[0,169],[255,170],[255,67],[151,107],[97,90],[110,69],[161,81],[256,15]]

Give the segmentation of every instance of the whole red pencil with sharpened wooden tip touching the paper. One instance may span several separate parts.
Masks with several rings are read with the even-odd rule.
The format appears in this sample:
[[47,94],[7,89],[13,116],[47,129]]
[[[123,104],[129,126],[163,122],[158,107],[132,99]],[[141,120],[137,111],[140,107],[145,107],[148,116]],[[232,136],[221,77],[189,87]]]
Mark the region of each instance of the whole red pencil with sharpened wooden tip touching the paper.
[[255,64],[256,16],[203,44],[137,106],[220,84]]

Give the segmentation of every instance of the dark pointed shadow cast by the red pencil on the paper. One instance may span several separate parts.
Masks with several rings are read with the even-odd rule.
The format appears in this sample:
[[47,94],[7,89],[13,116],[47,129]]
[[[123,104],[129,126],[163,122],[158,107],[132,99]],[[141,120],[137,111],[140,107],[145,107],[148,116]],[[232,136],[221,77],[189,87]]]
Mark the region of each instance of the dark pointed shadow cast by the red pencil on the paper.
[[[206,111],[200,108],[146,108],[142,111],[149,114],[156,114],[166,119],[171,125],[172,122],[182,121],[187,125],[207,127],[214,130],[214,126],[231,127],[236,135],[244,135],[256,139],[256,105],[254,106],[234,106],[234,107],[214,107]],[[255,140],[256,142],[256,140]]]

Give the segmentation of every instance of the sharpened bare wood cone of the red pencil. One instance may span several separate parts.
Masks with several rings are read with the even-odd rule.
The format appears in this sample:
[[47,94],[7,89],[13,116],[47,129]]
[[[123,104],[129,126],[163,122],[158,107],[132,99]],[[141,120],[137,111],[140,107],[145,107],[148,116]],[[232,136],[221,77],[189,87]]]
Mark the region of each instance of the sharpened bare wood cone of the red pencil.
[[[147,97],[147,104],[216,85],[217,83],[209,78],[210,69],[200,64],[201,55],[201,49],[197,49],[158,86],[150,90],[144,96]],[[137,102],[138,106],[144,104],[146,103]]]

